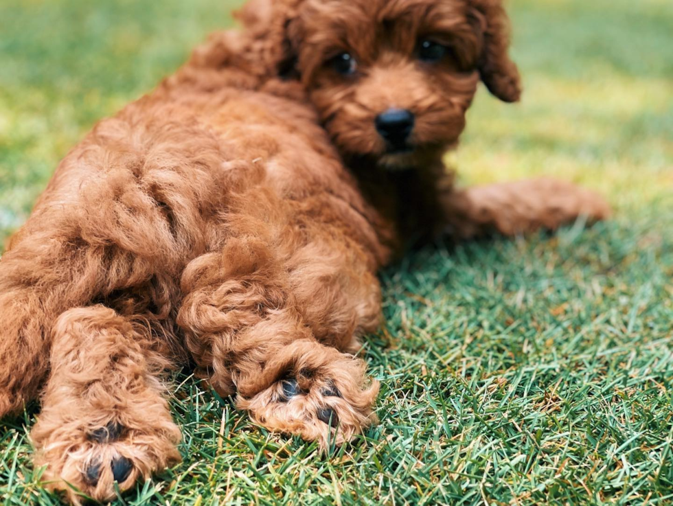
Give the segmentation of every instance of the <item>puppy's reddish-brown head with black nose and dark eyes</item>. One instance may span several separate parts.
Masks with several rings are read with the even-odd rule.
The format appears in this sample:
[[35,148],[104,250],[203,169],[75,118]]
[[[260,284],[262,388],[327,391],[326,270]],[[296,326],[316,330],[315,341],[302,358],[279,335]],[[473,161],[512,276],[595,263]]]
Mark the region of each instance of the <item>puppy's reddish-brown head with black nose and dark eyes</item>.
[[415,165],[457,141],[480,79],[521,94],[502,0],[251,0],[240,18],[346,159]]

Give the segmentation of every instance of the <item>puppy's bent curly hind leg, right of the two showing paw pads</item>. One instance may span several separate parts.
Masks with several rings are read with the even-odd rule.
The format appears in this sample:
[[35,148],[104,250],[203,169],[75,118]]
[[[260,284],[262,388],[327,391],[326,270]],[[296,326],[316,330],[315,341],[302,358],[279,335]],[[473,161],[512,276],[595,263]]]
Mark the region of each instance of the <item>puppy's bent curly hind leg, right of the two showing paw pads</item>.
[[340,444],[374,422],[378,383],[362,360],[317,341],[282,262],[252,238],[192,262],[178,323],[203,376],[255,422]]

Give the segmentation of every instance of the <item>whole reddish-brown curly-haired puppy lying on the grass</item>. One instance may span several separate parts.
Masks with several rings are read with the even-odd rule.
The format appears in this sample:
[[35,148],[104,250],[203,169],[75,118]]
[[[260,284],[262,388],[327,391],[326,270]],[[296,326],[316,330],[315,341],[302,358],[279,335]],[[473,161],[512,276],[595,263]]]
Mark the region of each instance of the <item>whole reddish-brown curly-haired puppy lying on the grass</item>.
[[0,416],[43,392],[36,465],[70,501],[179,459],[161,373],[190,360],[267,428],[350,439],[378,392],[352,353],[404,242],[608,212],[554,181],[453,189],[441,157],[479,80],[520,93],[499,0],[240,18],[93,129],[0,262]]

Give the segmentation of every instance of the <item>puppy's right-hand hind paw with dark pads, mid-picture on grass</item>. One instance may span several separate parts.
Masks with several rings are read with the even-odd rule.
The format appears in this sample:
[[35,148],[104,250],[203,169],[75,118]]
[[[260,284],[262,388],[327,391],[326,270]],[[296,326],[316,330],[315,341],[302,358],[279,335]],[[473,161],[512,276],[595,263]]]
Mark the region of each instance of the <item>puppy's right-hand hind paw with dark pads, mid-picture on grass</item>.
[[264,391],[240,396],[239,408],[269,430],[318,441],[323,449],[350,441],[376,423],[379,385],[367,378],[362,360],[332,351],[297,360]]

